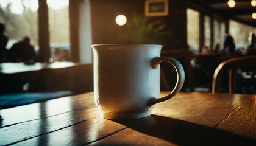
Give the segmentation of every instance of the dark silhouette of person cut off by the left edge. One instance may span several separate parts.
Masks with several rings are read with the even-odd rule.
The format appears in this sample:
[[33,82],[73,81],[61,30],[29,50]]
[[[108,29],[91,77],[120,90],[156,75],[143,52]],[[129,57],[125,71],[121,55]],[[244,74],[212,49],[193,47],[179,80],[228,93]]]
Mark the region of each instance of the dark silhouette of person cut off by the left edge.
[[6,45],[8,42],[8,38],[4,35],[4,30],[4,24],[0,23],[0,62],[6,61],[7,55]]

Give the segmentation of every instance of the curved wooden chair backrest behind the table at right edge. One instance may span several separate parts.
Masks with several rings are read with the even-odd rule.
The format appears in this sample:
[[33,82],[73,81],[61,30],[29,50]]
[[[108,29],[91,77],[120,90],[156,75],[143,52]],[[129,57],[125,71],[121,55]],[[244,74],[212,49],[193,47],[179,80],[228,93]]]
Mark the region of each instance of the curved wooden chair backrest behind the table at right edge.
[[212,83],[212,93],[219,92],[221,87],[221,78],[223,73],[229,69],[229,94],[232,94],[235,89],[234,71],[237,68],[254,68],[256,67],[256,55],[246,57],[236,57],[223,61],[215,69]]

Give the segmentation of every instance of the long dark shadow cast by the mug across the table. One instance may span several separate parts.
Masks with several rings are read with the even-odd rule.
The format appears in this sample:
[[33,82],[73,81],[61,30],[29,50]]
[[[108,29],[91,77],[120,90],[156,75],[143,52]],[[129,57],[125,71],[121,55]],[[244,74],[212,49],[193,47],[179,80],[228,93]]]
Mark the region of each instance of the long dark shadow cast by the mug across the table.
[[177,145],[256,145],[256,139],[170,117],[152,115],[133,125],[124,120],[113,122]]

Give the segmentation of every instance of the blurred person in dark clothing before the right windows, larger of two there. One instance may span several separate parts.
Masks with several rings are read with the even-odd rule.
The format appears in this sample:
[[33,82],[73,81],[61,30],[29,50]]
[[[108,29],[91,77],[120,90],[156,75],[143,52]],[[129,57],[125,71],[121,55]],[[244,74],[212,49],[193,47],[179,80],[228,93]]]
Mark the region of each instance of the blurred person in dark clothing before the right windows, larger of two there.
[[224,54],[233,55],[235,53],[234,39],[228,33],[225,34],[225,40],[224,40],[223,45],[224,45],[224,47],[223,47]]

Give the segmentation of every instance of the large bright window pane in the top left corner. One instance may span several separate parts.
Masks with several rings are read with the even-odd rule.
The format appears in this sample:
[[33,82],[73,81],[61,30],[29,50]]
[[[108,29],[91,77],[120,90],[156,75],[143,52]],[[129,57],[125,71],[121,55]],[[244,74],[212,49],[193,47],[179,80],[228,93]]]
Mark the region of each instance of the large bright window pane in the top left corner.
[[6,48],[28,36],[38,50],[38,0],[0,0],[0,7],[0,23],[9,38]]

